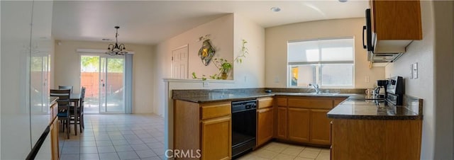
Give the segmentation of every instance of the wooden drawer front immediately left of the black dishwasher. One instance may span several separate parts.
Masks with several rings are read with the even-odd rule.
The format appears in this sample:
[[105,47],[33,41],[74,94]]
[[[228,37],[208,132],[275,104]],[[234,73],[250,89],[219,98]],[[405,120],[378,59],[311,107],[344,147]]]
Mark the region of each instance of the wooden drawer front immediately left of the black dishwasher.
[[209,103],[201,106],[201,119],[231,115],[231,103]]

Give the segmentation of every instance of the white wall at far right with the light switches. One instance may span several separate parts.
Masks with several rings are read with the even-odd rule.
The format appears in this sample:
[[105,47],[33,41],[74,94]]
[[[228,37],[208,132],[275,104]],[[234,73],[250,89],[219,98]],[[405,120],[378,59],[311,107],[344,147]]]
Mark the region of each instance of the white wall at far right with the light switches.
[[[423,40],[415,40],[386,76],[403,76],[407,95],[423,98],[421,159],[453,159],[453,1],[421,1]],[[417,62],[419,78],[410,79]]]

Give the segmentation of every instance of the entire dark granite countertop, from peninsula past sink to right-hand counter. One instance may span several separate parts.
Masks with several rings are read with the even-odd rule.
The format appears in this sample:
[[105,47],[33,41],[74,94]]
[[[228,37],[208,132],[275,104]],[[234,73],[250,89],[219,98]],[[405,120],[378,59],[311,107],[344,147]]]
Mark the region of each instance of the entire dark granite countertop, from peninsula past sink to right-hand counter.
[[[404,96],[404,105],[384,105],[375,103],[377,99],[361,92],[357,93],[304,93],[304,92],[272,92],[260,90],[180,90],[172,96],[175,100],[194,103],[209,103],[216,101],[242,101],[269,96],[329,96],[345,97],[347,100],[328,112],[328,118],[333,119],[361,119],[361,120],[422,120],[422,99]],[[362,92],[364,93],[364,92]],[[193,96],[197,95],[197,96]]]

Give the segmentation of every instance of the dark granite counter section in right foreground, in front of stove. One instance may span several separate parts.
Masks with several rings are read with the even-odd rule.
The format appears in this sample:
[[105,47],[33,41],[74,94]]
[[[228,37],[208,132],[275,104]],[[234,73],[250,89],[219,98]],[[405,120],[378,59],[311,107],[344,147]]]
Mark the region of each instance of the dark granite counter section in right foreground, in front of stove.
[[[419,104],[418,104],[419,105]],[[330,110],[328,118],[359,120],[421,120],[422,114],[409,105],[384,105],[374,100],[348,99]]]

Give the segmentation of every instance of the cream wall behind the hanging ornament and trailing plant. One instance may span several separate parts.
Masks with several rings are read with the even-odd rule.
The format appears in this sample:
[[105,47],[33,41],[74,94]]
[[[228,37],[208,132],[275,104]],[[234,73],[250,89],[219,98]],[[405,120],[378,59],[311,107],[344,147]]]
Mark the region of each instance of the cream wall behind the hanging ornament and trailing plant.
[[[161,42],[156,47],[156,55],[153,57],[155,64],[153,68],[157,70],[155,77],[155,108],[154,113],[163,115],[165,108],[165,78],[170,78],[172,68],[172,50],[183,45],[189,46],[189,79],[192,72],[196,72],[198,76],[202,74],[212,75],[217,74],[218,69],[211,62],[209,66],[204,66],[197,53],[201,47],[201,41],[198,38],[204,35],[210,35],[212,45],[216,48],[214,58],[226,58],[229,62],[233,62],[234,56],[240,54],[242,40],[247,40],[245,45],[249,49],[248,57],[243,59],[242,64],[233,63],[233,75],[229,75],[228,79],[235,81],[218,86],[217,88],[257,88],[264,87],[265,81],[265,30],[259,25],[248,21],[246,18],[237,14],[228,14],[214,21],[204,23],[191,30],[177,35],[165,42]],[[200,81],[199,84],[202,82]],[[190,83],[187,88],[213,88],[199,87]]]

